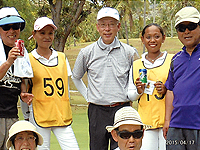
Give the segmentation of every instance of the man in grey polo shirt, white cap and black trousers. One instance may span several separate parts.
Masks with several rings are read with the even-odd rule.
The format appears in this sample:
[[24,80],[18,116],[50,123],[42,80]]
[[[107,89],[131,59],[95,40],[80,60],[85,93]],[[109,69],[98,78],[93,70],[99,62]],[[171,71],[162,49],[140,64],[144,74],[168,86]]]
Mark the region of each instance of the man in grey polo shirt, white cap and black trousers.
[[[121,43],[116,35],[120,29],[119,13],[105,7],[97,14],[100,38],[81,49],[72,73],[72,79],[89,103],[89,133],[91,150],[115,149],[117,143],[105,129],[112,125],[115,112],[130,105],[127,98],[128,75],[137,50]],[[88,86],[82,77],[87,72]]]

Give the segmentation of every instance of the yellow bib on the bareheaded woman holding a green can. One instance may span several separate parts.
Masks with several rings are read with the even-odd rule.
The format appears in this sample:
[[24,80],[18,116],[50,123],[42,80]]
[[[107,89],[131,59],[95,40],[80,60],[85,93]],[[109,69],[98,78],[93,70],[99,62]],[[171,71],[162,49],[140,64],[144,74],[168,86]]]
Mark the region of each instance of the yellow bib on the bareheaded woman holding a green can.
[[[141,59],[133,62],[134,82],[139,77],[139,69],[147,69],[147,80],[166,82],[173,54],[167,54],[164,63],[156,68],[145,68]],[[147,85],[148,86],[148,85]],[[152,94],[144,93],[138,100],[138,112],[142,122],[152,129],[163,127],[165,118],[165,95],[160,95],[154,88]]]

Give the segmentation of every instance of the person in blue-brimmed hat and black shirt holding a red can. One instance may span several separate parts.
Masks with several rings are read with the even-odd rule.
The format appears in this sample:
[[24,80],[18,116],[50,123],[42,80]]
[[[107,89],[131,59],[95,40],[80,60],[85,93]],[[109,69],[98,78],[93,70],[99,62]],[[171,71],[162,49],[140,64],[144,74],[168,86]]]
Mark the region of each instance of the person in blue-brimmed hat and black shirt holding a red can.
[[25,20],[14,7],[0,9],[0,149],[4,150],[8,130],[18,120],[19,96],[27,103],[32,100],[23,79],[33,76],[28,52],[25,49],[24,56],[19,58],[20,51],[15,46],[24,28]]

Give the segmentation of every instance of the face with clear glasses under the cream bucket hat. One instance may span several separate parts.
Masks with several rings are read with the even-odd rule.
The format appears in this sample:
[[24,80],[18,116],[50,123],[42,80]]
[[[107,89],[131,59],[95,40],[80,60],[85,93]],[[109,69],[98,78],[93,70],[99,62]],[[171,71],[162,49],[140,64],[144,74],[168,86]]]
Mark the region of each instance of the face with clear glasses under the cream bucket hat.
[[33,132],[23,131],[17,134],[15,137],[15,150],[35,150],[36,143],[33,140]]

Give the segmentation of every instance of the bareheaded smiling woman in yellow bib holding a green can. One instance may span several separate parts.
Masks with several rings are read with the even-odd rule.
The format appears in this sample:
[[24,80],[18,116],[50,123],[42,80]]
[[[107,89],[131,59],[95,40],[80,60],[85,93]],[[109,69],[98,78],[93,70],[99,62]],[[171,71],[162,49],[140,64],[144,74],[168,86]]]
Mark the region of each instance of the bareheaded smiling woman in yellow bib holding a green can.
[[[164,83],[167,80],[173,55],[160,51],[165,35],[158,24],[147,25],[142,31],[141,40],[147,52],[141,59],[133,62],[128,97],[131,100],[138,100],[138,112],[142,122],[151,126],[150,129],[144,131],[141,150],[165,150],[166,144],[162,131],[165,117]],[[140,69],[147,70],[147,83],[140,81]]]

